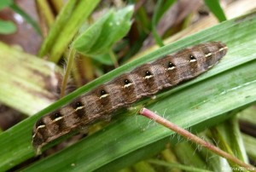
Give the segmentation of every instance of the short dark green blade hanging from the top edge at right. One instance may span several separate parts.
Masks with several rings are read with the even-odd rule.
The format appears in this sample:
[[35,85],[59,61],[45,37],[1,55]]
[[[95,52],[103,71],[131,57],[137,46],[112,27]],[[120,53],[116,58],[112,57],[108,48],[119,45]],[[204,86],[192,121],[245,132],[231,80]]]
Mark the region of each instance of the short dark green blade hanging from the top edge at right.
[[205,0],[205,3],[212,13],[218,18],[219,22],[227,20],[218,0]]

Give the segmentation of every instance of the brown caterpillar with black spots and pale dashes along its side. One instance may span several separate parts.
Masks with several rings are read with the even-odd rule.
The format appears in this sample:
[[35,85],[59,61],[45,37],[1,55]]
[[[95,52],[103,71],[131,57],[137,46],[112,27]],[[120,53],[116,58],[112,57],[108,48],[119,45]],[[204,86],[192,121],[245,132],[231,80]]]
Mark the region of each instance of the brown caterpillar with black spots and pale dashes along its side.
[[33,128],[32,145],[40,151],[62,135],[110,118],[119,107],[197,77],[217,64],[227,49],[221,42],[202,43],[137,66],[40,118]]

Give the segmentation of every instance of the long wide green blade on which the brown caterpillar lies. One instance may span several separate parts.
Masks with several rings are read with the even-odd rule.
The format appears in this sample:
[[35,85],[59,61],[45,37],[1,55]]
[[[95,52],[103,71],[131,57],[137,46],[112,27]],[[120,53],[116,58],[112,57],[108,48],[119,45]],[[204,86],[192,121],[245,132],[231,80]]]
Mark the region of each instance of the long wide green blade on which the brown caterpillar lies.
[[[44,114],[121,73],[131,71],[135,66],[197,43],[223,41],[227,43],[229,52],[218,66],[201,77],[160,93],[147,107],[183,128],[196,131],[229,118],[231,115],[226,112],[256,101],[255,16],[256,12],[225,21],[120,66],[4,131],[0,134],[0,147],[4,147],[0,149],[0,170],[10,169],[35,156],[31,144],[32,126]],[[117,112],[116,118],[106,128],[33,163],[23,171],[113,171],[160,152],[167,142],[177,142],[170,137],[173,132],[169,129],[134,114]]]

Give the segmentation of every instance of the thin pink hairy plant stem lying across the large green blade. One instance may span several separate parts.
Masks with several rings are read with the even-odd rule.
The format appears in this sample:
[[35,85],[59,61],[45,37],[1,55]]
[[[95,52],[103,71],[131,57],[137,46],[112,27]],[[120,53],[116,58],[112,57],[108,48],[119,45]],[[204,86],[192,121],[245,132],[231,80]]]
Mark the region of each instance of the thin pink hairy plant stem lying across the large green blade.
[[215,152],[219,156],[226,158],[241,167],[246,168],[249,171],[256,171],[255,167],[252,165],[249,165],[247,163],[243,163],[240,159],[233,157],[227,152],[222,151],[216,146],[213,146],[211,143],[208,143],[205,140],[202,140],[200,137],[193,135],[192,133],[189,133],[186,129],[182,129],[178,127],[176,124],[171,123],[170,121],[166,120],[165,118],[161,118],[159,115],[155,114],[154,112],[149,111],[147,108],[143,108],[140,111],[140,114],[144,117],[153,119],[156,123],[160,123],[161,125],[164,125],[168,129],[172,129],[172,131],[176,132],[178,135],[183,135],[183,137],[195,142],[198,145],[205,146],[207,149],[211,150],[212,152]]

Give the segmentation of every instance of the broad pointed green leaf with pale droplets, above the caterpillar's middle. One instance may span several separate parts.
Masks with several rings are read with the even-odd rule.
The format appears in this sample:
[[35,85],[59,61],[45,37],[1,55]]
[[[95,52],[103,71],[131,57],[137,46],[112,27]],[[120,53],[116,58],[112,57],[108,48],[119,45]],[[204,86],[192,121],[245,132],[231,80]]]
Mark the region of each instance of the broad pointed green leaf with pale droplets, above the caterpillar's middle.
[[109,11],[101,20],[80,37],[78,37],[73,47],[81,54],[97,55],[106,54],[112,48],[113,43],[125,36],[131,27],[131,15],[133,6],[119,9],[117,12]]

